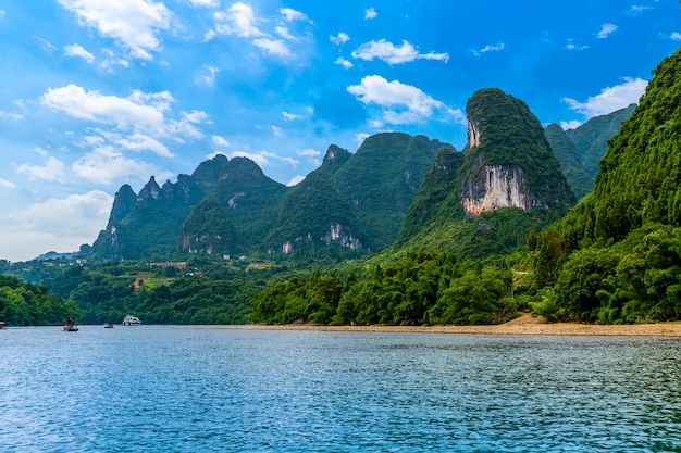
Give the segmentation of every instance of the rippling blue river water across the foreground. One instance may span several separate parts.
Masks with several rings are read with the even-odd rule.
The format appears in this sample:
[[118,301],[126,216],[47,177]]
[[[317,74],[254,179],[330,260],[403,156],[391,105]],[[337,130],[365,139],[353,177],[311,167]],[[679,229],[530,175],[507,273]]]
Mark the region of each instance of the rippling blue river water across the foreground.
[[681,340],[0,330],[2,452],[681,452]]

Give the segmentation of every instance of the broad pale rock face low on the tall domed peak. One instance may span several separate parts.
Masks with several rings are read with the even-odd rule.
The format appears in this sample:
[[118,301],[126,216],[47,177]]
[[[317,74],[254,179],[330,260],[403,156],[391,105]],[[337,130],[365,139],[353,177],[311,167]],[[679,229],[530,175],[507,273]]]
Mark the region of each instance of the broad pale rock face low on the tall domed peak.
[[461,193],[461,205],[468,215],[478,216],[499,207],[546,207],[528,191],[521,168],[486,165],[479,179],[469,178]]

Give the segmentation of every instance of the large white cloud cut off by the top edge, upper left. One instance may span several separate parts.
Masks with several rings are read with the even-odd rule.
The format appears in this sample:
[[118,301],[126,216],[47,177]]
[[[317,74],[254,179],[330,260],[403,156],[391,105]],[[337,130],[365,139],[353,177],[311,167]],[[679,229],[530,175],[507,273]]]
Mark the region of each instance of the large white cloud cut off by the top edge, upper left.
[[171,12],[153,0],[58,0],[78,17],[81,25],[96,28],[100,35],[113,38],[129,49],[135,58],[150,60],[161,42],[157,34],[169,29]]

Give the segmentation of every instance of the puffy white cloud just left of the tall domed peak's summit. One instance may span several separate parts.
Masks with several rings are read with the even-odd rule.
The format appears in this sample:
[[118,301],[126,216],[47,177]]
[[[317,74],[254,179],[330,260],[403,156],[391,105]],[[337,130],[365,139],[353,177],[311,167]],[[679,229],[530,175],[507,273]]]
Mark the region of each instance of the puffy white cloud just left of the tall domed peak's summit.
[[377,75],[363,77],[361,85],[349,86],[347,91],[363,104],[375,104],[382,109],[383,117],[373,123],[375,127],[381,127],[384,123],[420,123],[431,117],[434,110],[448,111],[444,103],[425,95],[419,88],[398,80],[387,81]]

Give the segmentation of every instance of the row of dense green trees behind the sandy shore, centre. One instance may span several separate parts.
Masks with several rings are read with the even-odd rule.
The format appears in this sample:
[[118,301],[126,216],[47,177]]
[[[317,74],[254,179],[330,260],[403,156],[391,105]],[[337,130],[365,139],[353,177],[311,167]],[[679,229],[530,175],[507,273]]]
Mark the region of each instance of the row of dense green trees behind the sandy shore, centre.
[[517,316],[512,273],[444,252],[408,253],[370,278],[318,272],[271,285],[251,319],[265,324],[496,324]]

